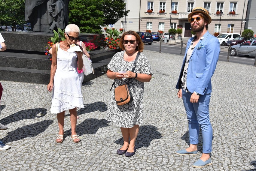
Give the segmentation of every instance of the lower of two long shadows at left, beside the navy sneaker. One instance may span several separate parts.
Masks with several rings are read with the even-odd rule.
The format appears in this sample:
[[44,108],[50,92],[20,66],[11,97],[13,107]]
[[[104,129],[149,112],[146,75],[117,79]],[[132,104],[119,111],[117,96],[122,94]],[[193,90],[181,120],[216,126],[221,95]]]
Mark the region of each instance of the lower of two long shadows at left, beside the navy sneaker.
[[26,137],[35,137],[44,132],[52,123],[53,120],[44,120],[35,124],[17,128],[14,131],[8,132],[7,136],[2,138],[2,140],[5,143],[10,143],[13,141],[22,140]]

